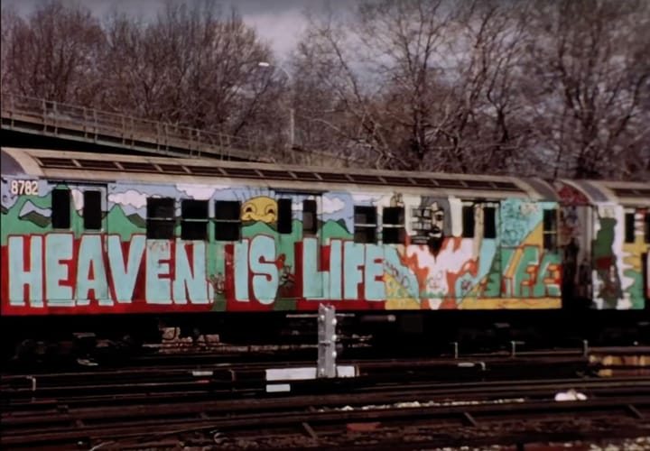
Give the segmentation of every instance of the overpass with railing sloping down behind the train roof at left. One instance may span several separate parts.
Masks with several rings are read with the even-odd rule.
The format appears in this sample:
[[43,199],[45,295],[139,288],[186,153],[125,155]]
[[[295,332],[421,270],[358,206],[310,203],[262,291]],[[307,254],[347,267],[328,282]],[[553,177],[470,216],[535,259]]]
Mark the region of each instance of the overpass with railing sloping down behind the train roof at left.
[[[42,98],[4,94],[1,109],[3,145],[13,147],[265,162],[275,162],[282,153],[262,141]],[[350,162],[328,152],[292,152],[295,160],[315,165]]]

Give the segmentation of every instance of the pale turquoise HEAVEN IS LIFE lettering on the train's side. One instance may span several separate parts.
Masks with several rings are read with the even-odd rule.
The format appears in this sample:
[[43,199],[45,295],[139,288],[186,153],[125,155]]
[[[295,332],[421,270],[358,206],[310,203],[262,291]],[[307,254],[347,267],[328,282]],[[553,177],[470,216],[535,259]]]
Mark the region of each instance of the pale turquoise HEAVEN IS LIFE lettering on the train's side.
[[[74,307],[97,303],[112,306],[143,300],[147,304],[209,304],[214,288],[208,260],[225,259],[228,299],[269,305],[277,297],[284,270],[274,238],[257,235],[227,244],[209,256],[201,241],[147,240],[133,235],[70,233],[10,236],[6,246],[10,305]],[[323,253],[328,254],[323,268]],[[294,244],[295,274],[307,300],[385,300],[384,252],[376,244],[316,238]],[[43,299],[47,299],[44,301]]]

